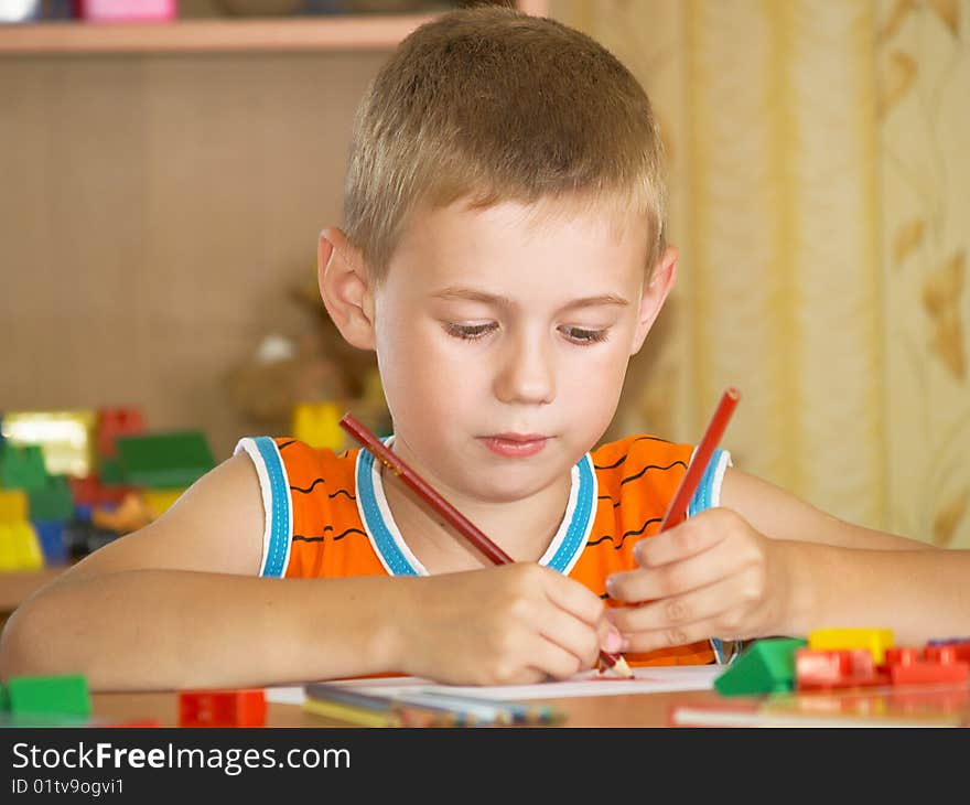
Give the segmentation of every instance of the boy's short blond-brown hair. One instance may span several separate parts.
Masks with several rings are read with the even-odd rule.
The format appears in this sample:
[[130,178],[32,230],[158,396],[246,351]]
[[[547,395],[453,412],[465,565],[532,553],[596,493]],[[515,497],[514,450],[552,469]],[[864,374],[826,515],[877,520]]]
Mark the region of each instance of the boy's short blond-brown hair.
[[397,47],[358,107],[347,238],[379,282],[409,215],[571,198],[649,216],[665,245],[662,149],[643,87],[605,47],[554,20],[479,6]]

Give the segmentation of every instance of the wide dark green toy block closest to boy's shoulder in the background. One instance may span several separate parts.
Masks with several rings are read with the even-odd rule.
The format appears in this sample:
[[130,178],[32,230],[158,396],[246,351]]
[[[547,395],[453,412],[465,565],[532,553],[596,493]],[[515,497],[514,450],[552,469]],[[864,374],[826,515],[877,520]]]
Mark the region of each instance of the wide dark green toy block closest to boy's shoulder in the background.
[[115,439],[125,482],[151,489],[185,489],[215,466],[197,430],[119,436]]

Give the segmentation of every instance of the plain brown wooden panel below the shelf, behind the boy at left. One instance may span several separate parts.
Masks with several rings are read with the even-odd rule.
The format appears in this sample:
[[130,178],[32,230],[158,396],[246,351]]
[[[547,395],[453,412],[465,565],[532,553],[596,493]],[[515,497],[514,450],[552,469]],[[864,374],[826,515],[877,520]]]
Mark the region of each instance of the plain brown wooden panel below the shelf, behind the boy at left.
[[386,54],[0,60],[0,411],[140,406],[217,459],[256,426],[225,373],[313,319]]

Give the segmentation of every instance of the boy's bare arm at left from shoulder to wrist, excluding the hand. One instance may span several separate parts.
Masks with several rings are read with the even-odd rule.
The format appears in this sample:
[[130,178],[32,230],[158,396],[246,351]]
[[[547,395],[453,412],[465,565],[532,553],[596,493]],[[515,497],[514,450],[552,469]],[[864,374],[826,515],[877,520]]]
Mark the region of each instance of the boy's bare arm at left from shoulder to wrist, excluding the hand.
[[234,457],[21,604],[0,676],[83,673],[94,689],[125,689],[386,668],[387,580],[258,578],[262,524],[256,471]]

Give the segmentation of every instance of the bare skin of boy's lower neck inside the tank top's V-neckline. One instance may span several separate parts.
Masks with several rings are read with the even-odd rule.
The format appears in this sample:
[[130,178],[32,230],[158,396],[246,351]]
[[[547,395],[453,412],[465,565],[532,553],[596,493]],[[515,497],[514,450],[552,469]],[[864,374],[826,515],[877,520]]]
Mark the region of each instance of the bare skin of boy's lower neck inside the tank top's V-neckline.
[[[442,525],[411,490],[380,469],[387,504],[411,552],[430,573],[455,572],[488,564],[451,526]],[[538,561],[562,523],[570,476],[515,503],[481,503],[449,498],[492,541],[516,561]]]

